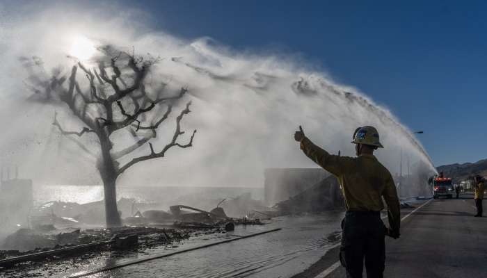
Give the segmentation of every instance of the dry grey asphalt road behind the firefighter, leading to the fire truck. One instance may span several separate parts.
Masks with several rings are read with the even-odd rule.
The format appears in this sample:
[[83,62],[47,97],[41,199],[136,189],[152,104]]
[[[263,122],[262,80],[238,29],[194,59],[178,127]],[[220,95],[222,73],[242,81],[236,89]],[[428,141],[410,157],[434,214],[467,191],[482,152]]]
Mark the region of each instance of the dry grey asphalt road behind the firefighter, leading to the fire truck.
[[[487,217],[475,213],[467,194],[401,210],[401,238],[386,238],[384,277],[487,277]],[[335,247],[295,277],[346,277],[337,258]]]

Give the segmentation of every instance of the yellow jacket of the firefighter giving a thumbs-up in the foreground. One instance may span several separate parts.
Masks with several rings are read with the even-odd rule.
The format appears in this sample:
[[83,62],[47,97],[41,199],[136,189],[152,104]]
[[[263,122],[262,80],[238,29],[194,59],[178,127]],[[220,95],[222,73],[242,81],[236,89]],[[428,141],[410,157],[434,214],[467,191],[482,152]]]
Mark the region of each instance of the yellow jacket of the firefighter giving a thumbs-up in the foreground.
[[347,211],[382,211],[383,197],[388,205],[390,227],[399,231],[400,204],[396,186],[389,170],[375,156],[335,156],[308,138],[301,140],[301,149],[312,161],[337,177]]

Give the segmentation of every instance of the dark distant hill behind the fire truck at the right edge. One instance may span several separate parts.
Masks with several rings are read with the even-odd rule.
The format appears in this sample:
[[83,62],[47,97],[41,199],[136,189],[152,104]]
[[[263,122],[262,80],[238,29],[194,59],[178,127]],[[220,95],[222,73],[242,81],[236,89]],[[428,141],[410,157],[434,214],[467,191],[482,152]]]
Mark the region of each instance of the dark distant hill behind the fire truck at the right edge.
[[487,176],[487,159],[476,163],[450,164],[436,167],[438,172],[443,172],[445,177],[451,177],[454,183],[471,179],[475,174]]

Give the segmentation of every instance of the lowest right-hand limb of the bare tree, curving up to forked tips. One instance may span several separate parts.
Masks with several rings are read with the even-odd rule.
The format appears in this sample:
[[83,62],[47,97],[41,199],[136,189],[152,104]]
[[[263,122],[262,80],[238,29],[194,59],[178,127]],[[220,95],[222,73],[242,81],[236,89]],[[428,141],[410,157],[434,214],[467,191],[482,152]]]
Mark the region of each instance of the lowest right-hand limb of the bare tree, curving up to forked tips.
[[138,158],[132,159],[127,164],[120,167],[120,169],[118,170],[118,174],[122,174],[123,172],[125,172],[125,170],[127,170],[129,167],[131,167],[132,165],[134,165],[136,163],[139,163],[142,161],[147,161],[147,160],[154,159],[154,158],[163,157],[166,154],[166,152],[168,151],[168,149],[170,149],[171,147],[187,148],[187,147],[193,146],[193,138],[195,136],[196,130],[193,131],[193,134],[191,135],[189,142],[186,143],[185,145],[179,144],[179,142],[177,142],[177,138],[180,135],[184,134],[184,131],[181,131],[181,120],[184,117],[184,115],[187,115],[191,112],[189,110],[190,105],[191,105],[191,101],[189,101],[188,104],[186,104],[186,108],[184,108],[184,110],[181,111],[181,113],[179,113],[179,115],[176,117],[176,130],[175,130],[174,135],[173,135],[173,140],[171,140],[171,142],[169,142],[168,145],[163,147],[161,152],[155,152],[154,147],[152,146],[152,143],[149,142],[150,154],[147,156],[140,156]]

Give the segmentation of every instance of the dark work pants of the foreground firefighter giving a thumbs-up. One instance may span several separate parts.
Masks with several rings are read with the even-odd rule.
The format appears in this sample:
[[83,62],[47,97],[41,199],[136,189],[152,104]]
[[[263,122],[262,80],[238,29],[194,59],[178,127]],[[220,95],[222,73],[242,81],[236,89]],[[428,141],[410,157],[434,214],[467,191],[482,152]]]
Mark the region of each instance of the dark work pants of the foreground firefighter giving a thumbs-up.
[[385,231],[379,212],[347,211],[342,221],[340,261],[346,277],[382,278],[385,268]]

